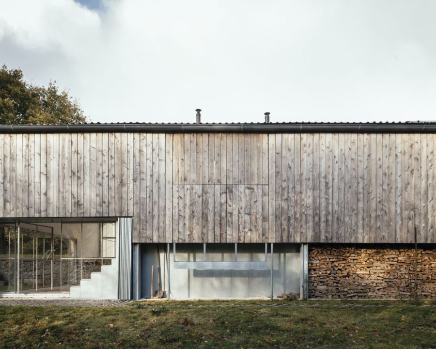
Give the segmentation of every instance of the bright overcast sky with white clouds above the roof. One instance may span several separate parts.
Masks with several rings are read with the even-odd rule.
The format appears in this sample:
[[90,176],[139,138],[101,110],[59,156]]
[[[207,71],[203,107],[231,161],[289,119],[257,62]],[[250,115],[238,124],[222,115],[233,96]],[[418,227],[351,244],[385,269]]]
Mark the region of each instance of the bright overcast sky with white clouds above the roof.
[[0,64],[93,122],[436,120],[436,1],[0,0]]

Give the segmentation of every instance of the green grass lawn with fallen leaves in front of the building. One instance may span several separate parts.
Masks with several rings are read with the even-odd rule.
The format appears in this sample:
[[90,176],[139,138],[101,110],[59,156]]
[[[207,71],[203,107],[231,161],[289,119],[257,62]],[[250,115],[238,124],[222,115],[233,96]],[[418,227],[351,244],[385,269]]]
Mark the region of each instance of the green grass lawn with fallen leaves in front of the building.
[[0,348],[436,348],[436,303],[423,304],[265,300],[0,306]]

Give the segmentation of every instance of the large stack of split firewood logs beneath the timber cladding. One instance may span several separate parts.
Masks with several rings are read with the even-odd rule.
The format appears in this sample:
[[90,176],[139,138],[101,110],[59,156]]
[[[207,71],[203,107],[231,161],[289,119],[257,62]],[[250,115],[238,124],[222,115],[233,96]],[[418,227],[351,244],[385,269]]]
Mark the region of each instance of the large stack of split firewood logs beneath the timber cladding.
[[[436,299],[436,246],[417,261],[418,294]],[[309,245],[309,298],[409,299],[414,281],[414,246]]]

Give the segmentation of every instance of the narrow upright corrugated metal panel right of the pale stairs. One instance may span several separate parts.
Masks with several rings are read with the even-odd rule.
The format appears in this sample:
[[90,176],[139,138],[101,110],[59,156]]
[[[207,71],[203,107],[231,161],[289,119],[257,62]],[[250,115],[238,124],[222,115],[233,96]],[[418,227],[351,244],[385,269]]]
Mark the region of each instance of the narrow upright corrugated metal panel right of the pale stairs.
[[132,298],[132,219],[120,218],[119,227],[119,292],[120,300]]

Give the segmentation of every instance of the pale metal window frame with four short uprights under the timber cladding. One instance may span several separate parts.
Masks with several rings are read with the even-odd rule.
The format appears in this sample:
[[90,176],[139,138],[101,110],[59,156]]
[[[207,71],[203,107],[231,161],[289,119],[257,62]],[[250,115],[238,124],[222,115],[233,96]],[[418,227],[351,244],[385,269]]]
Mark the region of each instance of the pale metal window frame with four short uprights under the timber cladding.
[[234,261],[207,262],[206,243],[203,243],[202,261],[178,261],[176,258],[176,243],[172,244],[172,256],[174,269],[192,270],[267,270],[268,266],[268,244],[265,242],[265,260],[262,262],[240,262],[238,261],[238,244],[234,243]]

